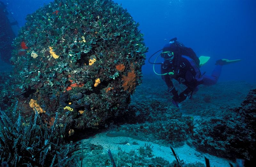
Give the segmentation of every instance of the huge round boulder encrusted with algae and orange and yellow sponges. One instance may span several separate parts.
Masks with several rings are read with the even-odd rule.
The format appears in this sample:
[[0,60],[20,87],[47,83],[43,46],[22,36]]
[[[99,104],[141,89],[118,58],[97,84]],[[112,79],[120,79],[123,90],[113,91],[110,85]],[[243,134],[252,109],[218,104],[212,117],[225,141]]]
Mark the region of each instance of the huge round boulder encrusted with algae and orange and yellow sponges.
[[26,19],[11,59],[24,116],[38,112],[51,122],[58,112],[73,134],[127,107],[147,52],[127,10],[111,0],[55,0]]

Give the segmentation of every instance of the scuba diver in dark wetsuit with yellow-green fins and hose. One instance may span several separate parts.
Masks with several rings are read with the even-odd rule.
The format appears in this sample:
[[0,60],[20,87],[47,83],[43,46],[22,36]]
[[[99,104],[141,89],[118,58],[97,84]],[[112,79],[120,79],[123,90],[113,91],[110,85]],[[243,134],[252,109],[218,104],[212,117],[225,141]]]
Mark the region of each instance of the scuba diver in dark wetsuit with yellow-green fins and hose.
[[[162,52],[159,55],[164,58],[164,62],[156,63],[156,60],[154,63],[150,62],[150,58],[161,50]],[[157,74],[155,72],[154,65],[153,70],[157,75],[162,76],[162,79],[165,81],[168,87],[168,91],[173,95],[172,104],[177,107],[179,107],[178,104],[184,101],[187,97],[192,97],[193,92],[198,90],[198,85],[213,85],[217,83],[223,65],[241,61],[240,59],[217,60],[215,64],[216,67],[212,71],[212,75],[204,75],[205,73],[201,74],[199,68],[204,65],[210,59],[210,57],[200,56],[198,58],[193,49],[185,47],[181,42],[177,41],[177,38],[171,39],[170,42],[161,50],[154,53],[148,61],[154,65],[161,64],[161,74]],[[173,86],[172,79],[184,84],[187,89],[178,94],[178,91]]]

